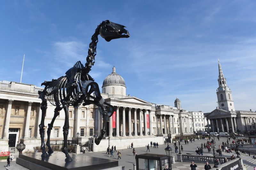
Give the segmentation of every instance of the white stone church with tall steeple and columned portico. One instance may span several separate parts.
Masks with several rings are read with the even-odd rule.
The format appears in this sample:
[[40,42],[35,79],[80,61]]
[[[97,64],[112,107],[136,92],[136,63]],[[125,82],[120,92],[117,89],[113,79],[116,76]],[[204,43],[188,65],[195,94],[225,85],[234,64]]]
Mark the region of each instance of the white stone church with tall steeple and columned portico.
[[235,110],[231,89],[227,86],[226,78],[222,72],[220,61],[219,77],[217,89],[218,107],[206,114],[208,129],[211,124],[212,131],[215,132],[248,132],[255,131],[256,112]]

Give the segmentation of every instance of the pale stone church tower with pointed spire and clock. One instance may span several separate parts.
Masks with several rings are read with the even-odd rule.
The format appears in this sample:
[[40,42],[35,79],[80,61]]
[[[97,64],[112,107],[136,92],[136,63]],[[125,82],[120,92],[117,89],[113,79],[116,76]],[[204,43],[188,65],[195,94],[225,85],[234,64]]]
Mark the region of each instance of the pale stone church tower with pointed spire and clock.
[[219,108],[228,110],[228,111],[235,111],[232,92],[227,86],[226,78],[224,77],[224,74],[220,66],[220,60],[218,60],[218,64],[219,64],[219,77],[218,77],[219,88],[217,89],[217,98],[218,98]]

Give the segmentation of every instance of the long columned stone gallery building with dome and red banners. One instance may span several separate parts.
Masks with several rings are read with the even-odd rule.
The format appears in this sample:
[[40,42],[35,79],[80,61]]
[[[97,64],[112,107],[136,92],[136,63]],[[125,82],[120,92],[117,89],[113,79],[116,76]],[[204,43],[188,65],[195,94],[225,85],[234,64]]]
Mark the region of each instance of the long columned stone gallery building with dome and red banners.
[[[1,146],[7,149],[15,147],[20,142],[20,138],[24,139],[26,147],[31,145],[30,148],[33,148],[32,146],[41,144],[38,125],[41,122],[40,103],[42,101],[38,98],[38,90],[43,88],[13,81],[0,81]],[[162,144],[167,134],[172,134],[173,138],[178,134],[193,133],[192,113],[181,109],[178,98],[172,107],[126,95],[125,81],[116,73],[115,67],[103,81],[101,96],[105,102],[115,108],[113,116],[107,123],[106,136],[109,136],[113,142],[118,141],[120,145],[124,145],[119,145],[119,148],[127,148],[128,144],[136,141],[139,143],[136,147],[145,146],[150,141]],[[44,122],[45,136],[47,136],[47,125],[52,120],[54,109],[55,106],[48,102]],[[51,140],[63,139],[64,119],[64,110],[61,110],[53,124]],[[85,143],[94,134],[100,135],[102,124],[102,115],[96,105],[81,105],[78,108],[70,106],[68,139],[76,139],[78,132],[82,143]],[[141,143],[143,138],[145,143]]]

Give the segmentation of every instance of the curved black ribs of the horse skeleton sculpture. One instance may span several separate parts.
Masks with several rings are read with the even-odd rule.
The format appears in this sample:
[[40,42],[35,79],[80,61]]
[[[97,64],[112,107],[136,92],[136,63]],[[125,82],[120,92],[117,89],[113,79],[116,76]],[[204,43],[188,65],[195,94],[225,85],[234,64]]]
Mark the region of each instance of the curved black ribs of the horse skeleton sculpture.
[[[72,91],[70,96],[70,106],[79,106],[84,98],[82,87],[85,81],[81,80],[81,72],[76,73],[74,77],[74,83],[76,84],[75,89]],[[70,83],[68,82],[67,76],[62,76],[56,80],[48,82],[45,86],[45,96],[49,102],[54,106],[61,106],[60,101],[67,95],[66,91],[69,88]]]

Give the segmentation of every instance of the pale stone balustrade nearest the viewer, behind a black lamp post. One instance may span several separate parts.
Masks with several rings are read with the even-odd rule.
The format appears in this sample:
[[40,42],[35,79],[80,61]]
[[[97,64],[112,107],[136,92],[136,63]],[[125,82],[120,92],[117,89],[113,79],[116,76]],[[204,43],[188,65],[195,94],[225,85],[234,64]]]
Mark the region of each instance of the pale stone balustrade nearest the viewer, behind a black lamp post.
[[[220,164],[224,163],[224,159],[227,158],[230,161],[230,157],[220,157],[215,156],[215,160],[219,159]],[[196,163],[206,163],[214,164],[213,156],[204,156],[204,155],[188,155],[188,154],[177,154],[177,161],[179,162],[196,162]]]

